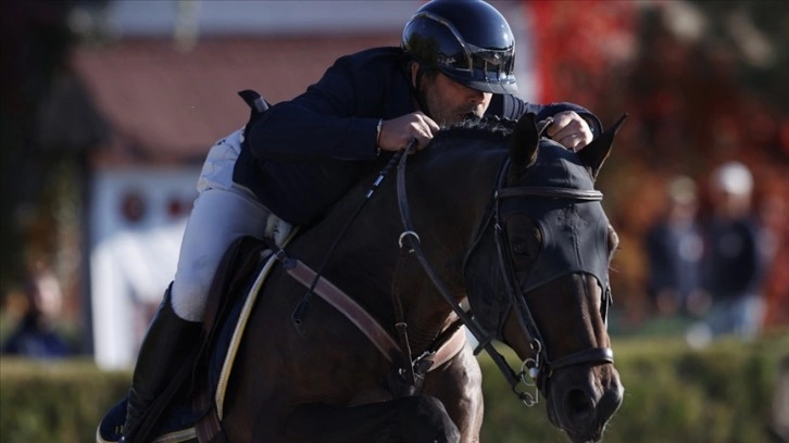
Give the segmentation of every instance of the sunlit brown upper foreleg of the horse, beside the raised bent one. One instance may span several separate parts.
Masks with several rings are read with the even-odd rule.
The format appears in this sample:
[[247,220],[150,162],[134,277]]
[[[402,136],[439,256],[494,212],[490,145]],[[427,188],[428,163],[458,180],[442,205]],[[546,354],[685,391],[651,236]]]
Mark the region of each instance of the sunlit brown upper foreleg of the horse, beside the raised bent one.
[[461,431],[461,442],[479,442],[483,427],[483,372],[472,349],[466,346],[441,368],[428,372],[423,392],[441,401]]

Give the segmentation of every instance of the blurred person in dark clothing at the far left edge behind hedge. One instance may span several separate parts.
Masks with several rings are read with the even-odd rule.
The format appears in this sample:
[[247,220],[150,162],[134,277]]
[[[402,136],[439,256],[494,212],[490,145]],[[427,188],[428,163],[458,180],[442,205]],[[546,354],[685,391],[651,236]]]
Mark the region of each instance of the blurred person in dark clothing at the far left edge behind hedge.
[[58,358],[70,355],[71,349],[55,330],[63,294],[50,271],[32,275],[25,287],[25,312],[2,346],[3,354],[30,358]]

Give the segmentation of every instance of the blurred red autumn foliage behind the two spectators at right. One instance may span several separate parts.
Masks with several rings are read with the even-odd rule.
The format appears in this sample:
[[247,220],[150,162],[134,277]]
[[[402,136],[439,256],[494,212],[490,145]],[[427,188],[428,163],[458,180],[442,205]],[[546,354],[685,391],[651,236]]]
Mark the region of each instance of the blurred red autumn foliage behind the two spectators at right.
[[[659,213],[668,177],[694,177],[704,197],[706,175],[736,159],[756,178],[755,208],[774,200],[789,204],[789,118],[746,89],[736,55],[725,46],[672,31],[662,17],[666,4],[536,0],[527,5],[539,101],[579,103],[604,125],[629,114],[600,183],[624,239],[627,258],[612,280],[626,306],[643,303],[640,239]],[[772,228],[780,246],[767,295],[775,306],[784,303],[786,313],[787,217],[777,225]],[[775,313],[768,318],[789,321]]]

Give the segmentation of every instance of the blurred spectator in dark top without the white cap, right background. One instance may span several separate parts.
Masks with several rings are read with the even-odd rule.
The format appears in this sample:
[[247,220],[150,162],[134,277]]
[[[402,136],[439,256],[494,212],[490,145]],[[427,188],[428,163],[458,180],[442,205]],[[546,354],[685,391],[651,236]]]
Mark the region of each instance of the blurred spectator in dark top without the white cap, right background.
[[709,307],[701,287],[698,208],[696,182],[686,176],[672,179],[665,214],[647,235],[649,294],[659,314],[699,314]]

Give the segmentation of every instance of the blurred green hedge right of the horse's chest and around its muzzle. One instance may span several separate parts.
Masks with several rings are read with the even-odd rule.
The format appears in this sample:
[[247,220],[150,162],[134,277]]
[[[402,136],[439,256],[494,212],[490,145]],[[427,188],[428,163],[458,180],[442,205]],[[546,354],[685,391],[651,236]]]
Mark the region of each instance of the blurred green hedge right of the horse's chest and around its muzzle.
[[[625,398],[605,442],[779,441],[771,435],[771,416],[789,333],[750,344],[719,341],[703,351],[660,339],[614,339],[613,347]],[[483,363],[483,442],[568,441],[548,421],[543,403],[521,405],[492,363]]]

